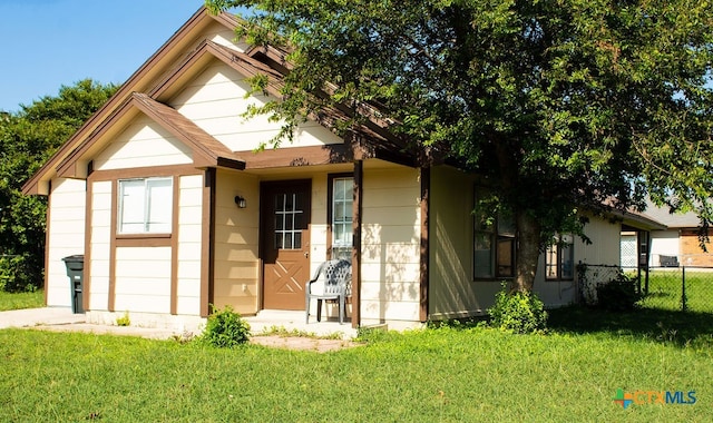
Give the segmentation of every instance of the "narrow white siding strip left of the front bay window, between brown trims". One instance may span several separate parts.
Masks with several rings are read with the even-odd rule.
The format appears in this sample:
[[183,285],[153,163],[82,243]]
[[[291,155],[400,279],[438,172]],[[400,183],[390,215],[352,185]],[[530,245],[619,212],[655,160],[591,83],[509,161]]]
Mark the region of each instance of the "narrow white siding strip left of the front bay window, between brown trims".
[[111,252],[111,193],[110,181],[91,186],[91,263],[89,309],[107,309],[109,304],[109,260]]

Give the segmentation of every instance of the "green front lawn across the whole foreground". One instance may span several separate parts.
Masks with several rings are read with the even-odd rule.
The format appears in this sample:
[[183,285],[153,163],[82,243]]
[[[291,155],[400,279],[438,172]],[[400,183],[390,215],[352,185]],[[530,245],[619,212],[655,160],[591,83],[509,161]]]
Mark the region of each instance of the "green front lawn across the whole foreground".
[[[325,354],[4,329],[0,420],[713,421],[711,315],[574,307],[550,323],[371,333]],[[623,409],[617,390],[644,404]],[[665,391],[696,402],[648,404]]]

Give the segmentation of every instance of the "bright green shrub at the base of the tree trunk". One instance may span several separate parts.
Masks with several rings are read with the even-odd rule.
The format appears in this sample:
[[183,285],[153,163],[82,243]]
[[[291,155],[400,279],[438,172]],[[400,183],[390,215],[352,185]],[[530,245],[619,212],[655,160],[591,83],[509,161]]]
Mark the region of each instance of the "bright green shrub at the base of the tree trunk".
[[505,284],[488,308],[490,325],[518,334],[544,331],[547,327],[545,305],[534,293],[509,293]]

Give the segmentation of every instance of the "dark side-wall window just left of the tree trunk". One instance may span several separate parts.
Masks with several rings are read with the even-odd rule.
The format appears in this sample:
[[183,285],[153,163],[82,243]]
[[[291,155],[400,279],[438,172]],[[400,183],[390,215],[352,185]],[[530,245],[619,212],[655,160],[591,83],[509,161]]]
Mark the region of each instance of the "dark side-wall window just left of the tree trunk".
[[[476,193],[478,196],[478,193]],[[473,278],[515,276],[515,222],[508,216],[473,222]]]

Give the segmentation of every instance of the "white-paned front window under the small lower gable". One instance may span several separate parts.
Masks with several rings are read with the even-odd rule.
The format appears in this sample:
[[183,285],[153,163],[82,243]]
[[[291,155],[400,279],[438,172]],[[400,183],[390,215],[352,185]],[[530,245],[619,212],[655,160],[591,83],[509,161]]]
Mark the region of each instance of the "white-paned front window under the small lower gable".
[[119,234],[170,234],[173,179],[119,180]]

